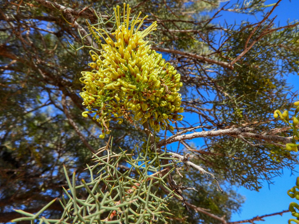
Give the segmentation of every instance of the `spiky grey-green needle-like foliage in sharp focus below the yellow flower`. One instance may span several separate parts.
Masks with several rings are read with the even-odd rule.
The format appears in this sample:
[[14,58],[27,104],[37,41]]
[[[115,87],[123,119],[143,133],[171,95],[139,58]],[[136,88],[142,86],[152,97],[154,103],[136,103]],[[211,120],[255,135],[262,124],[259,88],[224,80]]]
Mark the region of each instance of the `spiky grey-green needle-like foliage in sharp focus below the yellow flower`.
[[[113,140],[113,138],[112,138]],[[111,140],[111,141],[112,141]],[[109,139],[110,142],[110,139]],[[119,153],[112,149],[112,143],[99,149],[93,155],[95,165],[87,165],[90,172],[90,180],[81,179],[81,184],[76,183],[75,172],[72,179],[64,167],[68,189],[63,188],[64,194],[60,204],[63,213],[60,219],[45,218],[42,213],[48,209],[55,200],[52,200],[36,214],[30,214],[22,210],[16,210],[26,216],[12,220],[39,221],[39,223],[168,223],[171,213],[167,205],[173,192],[164,182],[164,177],[160,177],[163,165],[159,164],[160,158],[165,157],[165,153],[149,153],[148,150],[140,153],[136,148],[131,153],[120,148]],[[148,148],[149,142],[147,144]],[[107,152],[104,156],[98,154]],[[148,160],[148,156],[153,159]],[[118,164],[125,160],[131,165],[129,170],[120,172]],[[158,164],[158,166],[154,166]],[[171,163],[170,165],[172,165]],[[168,168],[168,173],[173,169]],[[139,178],[131,177],[132,172],[137,172]],[[169,194],[159,195],[159,187],[170,191]],[[87,191],[87,197],[79,194],[81,190]]]

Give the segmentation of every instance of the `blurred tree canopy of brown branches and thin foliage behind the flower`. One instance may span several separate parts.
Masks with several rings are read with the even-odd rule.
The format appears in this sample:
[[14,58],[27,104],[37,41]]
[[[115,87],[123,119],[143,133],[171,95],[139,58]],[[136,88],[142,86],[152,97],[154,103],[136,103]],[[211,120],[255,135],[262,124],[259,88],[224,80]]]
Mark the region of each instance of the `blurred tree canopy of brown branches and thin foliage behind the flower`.
[[[231,185],[258,190],[263,180],[270,183],[283,168],[293,170],[298,163],[296,154],[286,150],[286,144],[295,144],[295,140],[288,138],[293,136],[292,127],[283,126],[286,116],[281,115],[280,120],[273,118],[275,110],[293,107],[297,95],[291,91],[286,76],[299,71],[298,22],[291,21],[286,26],[275,24],[280,1],[273,5],[265,5],[265,0],[234,4],[217,0],[126,2],[131,7],[130,19],[139,11],[141,19],[148,15],[140,26],[141,31],[149,29],[151,24],[157,25],[145,37],[148,50],[156,54],[151,59],[160,63],[163,56],[172,66],[167,72],[173,74],[175,69],[180,74],[169,83],[157,79],[164,85],[161,93],[168,94],[165,90],[175,93],[172,84],[178,83],[180,91],[171,96],[177,98],[173,106],[192,119],[165,112],[155,117],[157,123],[152,125],[152,118],[146,126],[143,125],[146,121],[141,124],[138,119],[125,119],[126,113],[119,109],[122,122],[112,119],[109,127],[89,113],[81,116],[88,106],[84,102],[93,99],[88,95],[84,98],[80,78],[81,71],[88,74],[93,70],[90,56],[96,54],[89,51],[96,53],[102,47],[99,41],[104,44],[103,36],[89,32],[103,30],[112,37],[116,28],[113,7],[119,5],[122,9],[123,2],[5,2],[0,11],[0,222],[20,217],[13,208],[34,213],[60,197],[64,192],[61,186],[68,188],[72,171],[76,171],[74,182],[90,179],[89,172],[83,170],[86,164],[92,165],[92,153],[109,143],[111,135],[113,141],[109,147],[120,147],[118,153],[134,154],[137,147],[150,159],[154,155],[147,154],[149,137],[150,144],[155,141],[161,149],[179,142],[177,151],[171,152],[166,147],[171,153],[168,156],[182,161],[176,167],[181,170],[173,171],[173,178],[197,191],[186,189],[182,193],[184,201],[175,197],[168,201],[168,208],[175,214],[170,216],[172,222],[232,223],[231,214],[239,211],[244,198],[231,190]],[[222,12],[258,15],[260,20],[218,24],[215,19]],[[122,11],[120,14],[122,17]],[[86,20],[91,24],[89,27]],[[160,87],[158,81],[156,88]],[[149,89],[144,91],[148,98],[152,97]],[[114,97],[116,94],[113,92]],[[174,129],[166,123],[159,124],[161,131],[155,128],[158,121],[168,117],[176,121],[171,124]],[[202,132],[192,133],[198,125]],[[108,128],[109,134],[104,136],[102,130]],[[155,140],[151,139],[150,131]],[[183,135],[168,138],[180,131]],[[191,134],[185,134],[187,131]],[[204,140],[202,145],[189,141],[197,137]],[[194,155],[190,158],[192,164],[188,163],[187,154]],[[147,156],[138,159],[145,161]],[[159,159],[152,161],[153,166],[158,166]],[[124,160],[116,170],[131,171]],[[134,179],[140,174],[130,175]],[[224,183],[218,186],[218,180]],[[170,182],[157,188],[159,194],[175,190],[169,185]],[[216,191],[218,188],[222,188],[222,194]],[[44,216],[57,218],[62,210],[56,200]]]

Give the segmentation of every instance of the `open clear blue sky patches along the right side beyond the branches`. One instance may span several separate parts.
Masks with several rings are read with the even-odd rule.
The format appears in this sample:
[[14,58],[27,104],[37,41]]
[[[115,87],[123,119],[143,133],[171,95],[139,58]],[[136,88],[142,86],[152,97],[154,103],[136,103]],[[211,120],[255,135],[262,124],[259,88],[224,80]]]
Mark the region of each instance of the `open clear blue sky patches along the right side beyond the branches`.
[[[230,1],[229,4],[233,4],[235,0]],[[266,1],[266,4],[276,3],[276,1]],[[270,8],[266,9],[267,11]],[[276,24],[278,21],[280,25],[285,25],[286,21],[294,21],[299,19],[299,1],[298,0],[283,0],[279,6],[272,13],[273,16],[277,15]],[[240,23],[241,20],[248,19],[249,21],[260,21],[260,16],[242,15],[238,13],[223,12],[222,17],[217,18],[218,21],[223,24],[224,19],[230,24],[236,22]],[[290,74],[287,78],[288,82],[293,85],[293,90],[299,90],[299,76],[297,74]],[[298,166],[299,167],[299,166]],[[299,169],[298,169],[299,171]],[[296,177],[299,174],[291,176],[291,171],[284,170],[282,177],[276,177],[273,179],[274,184],[268,185],[267,182],[263,184],[263,188],[257,191],[249,191],[243,187],[236,189],[238,193],[246,197],[246,201],[242,206],[242,211],[239,214],[234,214],[231,221],[239,221],[250,219],[257,215],[271,214],[283,210],[287,210],[290,202],[295,202],[295,199],[290,198],[286,192],[295,185]],[[290,213],[285,213],[283,216],[276,215],[272,217],[266,217],[265,221],[255,221],[257,224],[286,224],[288,220],[292,218]]]

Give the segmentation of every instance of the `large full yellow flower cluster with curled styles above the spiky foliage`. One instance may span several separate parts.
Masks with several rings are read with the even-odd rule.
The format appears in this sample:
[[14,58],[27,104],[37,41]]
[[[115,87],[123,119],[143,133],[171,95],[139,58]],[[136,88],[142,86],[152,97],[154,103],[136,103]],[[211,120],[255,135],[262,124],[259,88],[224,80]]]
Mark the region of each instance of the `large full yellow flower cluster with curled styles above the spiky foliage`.
[[[89,66],[94,70],[81,72],[83,77],[80,78],[85,84],[80,95],[88,109],[82,115],[87,117],[88,113],[95,113],[94,119],[102,125],[100,138],[110,133],[109,121],[123,122],[120,117],[130,122],[133,118],[141,124],[149,122],[156,132],[160,128],[165,130],[166,126],[173,130],[170,122],[182,119],[182,115],[178,114],[183,112],[181,94],[178,93],[182,86],[180,74],[170,63],[165,63],[161,54],[150,50],[149,41],[143,39],[156,30],[157,23],[139,31],[147,16],[138,19],[140,12],[130,22],[130,10],[129,5],[126,8],[124,3],[121,23],[119,6],[114,8],[117,27],[112,33],[114,40],[104,30],[88,24],[97,42],[100,36],[106,42],[101,44],[100,54],[90,51],[94,62]],[[93,29],[100,36],[95,36]]]

